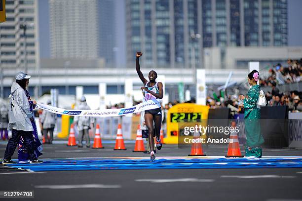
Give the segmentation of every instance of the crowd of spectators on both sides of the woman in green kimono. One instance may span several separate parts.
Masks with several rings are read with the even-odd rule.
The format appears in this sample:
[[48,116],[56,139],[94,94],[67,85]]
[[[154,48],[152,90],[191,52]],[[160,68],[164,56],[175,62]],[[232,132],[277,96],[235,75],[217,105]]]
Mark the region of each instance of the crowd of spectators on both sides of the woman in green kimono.
[[[302,112],[302,91],[280,91],[278,85],[302,81],[302,59],[287,61],[287,67],[280,63],[268,70],[268,76],[262,76],[261,86],[270,86],[271,90],[266,92],[267,106],[288,106],[290,111]],[[240,94],[239,94],[240,95]],[[240,100],[237,95],[227,97],[207,97],[207,105],[210,108],[229,107],[238,113],[243,113],[240,108]]]

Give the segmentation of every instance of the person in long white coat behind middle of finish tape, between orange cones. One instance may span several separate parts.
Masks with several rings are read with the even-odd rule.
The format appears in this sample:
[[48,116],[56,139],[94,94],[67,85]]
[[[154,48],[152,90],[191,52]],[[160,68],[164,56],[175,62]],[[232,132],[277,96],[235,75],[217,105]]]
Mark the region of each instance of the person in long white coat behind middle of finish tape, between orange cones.
[[[76,108],[79,110],[90,110],[90,107],[86,103],[85,96],[82,96],[80,99],[80,104]],[[74,123],[77,125],[78,130],[78,147],[83,147],[82,140],[83,137],[85,137],[86,140],[86,147],[90,147],[90,138],[89,138],[89,129],[90,129],[90,123],[92,122],[92,118],[90,117],[78,117],[75,116]]]

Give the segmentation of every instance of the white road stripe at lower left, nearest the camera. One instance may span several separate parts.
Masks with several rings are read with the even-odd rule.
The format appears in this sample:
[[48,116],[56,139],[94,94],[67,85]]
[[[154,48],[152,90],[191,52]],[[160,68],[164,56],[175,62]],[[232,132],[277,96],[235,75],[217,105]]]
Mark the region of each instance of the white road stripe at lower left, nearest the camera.
[[104,184],[79,184],[79,185],[39,185],[38,189],[82,189],[82,188],[121,188],[120,185],[104,185]]

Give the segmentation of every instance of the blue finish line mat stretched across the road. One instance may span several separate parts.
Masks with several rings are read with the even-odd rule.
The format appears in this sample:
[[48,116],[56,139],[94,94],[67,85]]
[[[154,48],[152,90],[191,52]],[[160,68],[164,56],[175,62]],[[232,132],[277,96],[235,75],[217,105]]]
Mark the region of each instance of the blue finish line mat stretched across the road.
[[302,157],[262,159],[223,157],[147,157],[43,159],[43,163],[7,165],[29,171],[120,170],[120,169],[216,169],[216,168],[302,168]]

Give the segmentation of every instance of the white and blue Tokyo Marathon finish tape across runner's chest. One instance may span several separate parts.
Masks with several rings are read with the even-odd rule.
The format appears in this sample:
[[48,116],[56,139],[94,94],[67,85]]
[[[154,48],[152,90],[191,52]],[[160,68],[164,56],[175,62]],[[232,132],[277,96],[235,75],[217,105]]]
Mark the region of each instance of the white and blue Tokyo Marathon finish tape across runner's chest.
[[160,103],[156,99],[148,100],[147,102],[140,103],[131,108],[107,109],[107,110],[65,110],[56,108],[50,105],[37,103],[37,108],[46,110],[51,113],[69,116],[82,116],[82,117],[116,117],[132,113],[138,113],[145,110],[152,110],[160,108]]

